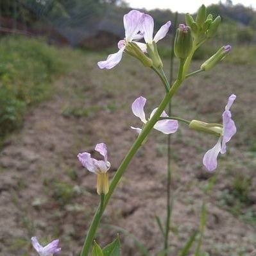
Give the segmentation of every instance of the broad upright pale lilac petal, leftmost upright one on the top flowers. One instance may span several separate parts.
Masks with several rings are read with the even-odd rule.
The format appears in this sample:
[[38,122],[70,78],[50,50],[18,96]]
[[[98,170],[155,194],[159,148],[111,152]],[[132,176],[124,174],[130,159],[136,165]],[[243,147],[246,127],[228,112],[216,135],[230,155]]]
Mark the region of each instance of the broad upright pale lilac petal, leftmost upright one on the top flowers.
[[137,10],[132,10],[124,15],[125,39],[127,42],[132,41],[137,36],[137,33],[141,30],[143,19],[143,13]]

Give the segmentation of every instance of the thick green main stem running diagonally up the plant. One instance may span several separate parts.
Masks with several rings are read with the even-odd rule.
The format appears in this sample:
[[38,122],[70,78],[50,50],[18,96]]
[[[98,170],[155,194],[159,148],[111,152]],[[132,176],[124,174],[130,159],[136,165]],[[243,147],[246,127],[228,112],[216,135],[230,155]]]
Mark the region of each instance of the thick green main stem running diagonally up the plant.
[[[96,234],[96,230],[98,228],[99,221],[101,219],[101,216],[102,216],[105,208],[107,207],[108,200],[110,200],[110,197],[112,196],[112,194],[115,190],[115,187],[117,187],[117,184],[119,183],[119,180],[121,179],[121,176],[123,176],[124,171],[126,171],[126,167],[128,166],[128,164],[132,160],[132,158],[135,155],[135,153],[137,152],[137,150],[141,147],[142,142],[148,136],[149,132],[153,129],[153,126],[155,125],[155,123],[157,123],[160,115],[162,114],[162,112],[164,111],[166,106],[168,105],[169,101],[171,100],[171,98],[175,94],[178,87],[181,85],[181,83],[183,81],[183,79],[182,79],[183,64],[184,64],[183,60],[180,60],[180,68],[179,68],[179,73],[178,73],[177,80],[175,81],[175,83],[173,84],[173,86],[171,87],[169,92],[166,92],[166,95],[162,99],[159,107],[157,108],[157,111],[155,112],[153,117],[148,121],[148,123],[146,123],[146,125],[144,126],[143,130],[141,131],[141,133],[139,134],[139,136],[137,137],[135,142],[133,142],[132,148],[130,148],[126,157],[124,157],[123,161],[121,162],[121,165],[117,169],[117,171],[114,175],[114,178],[112,179],[112,182],[110,183],[108,194],[105,195],[105,199],[104,199],[102,209],[99,205],[98,209],[96,210],[96,213],[94,214],[94,218],[92,219],[92,223],[90,224],[90,227],[89,227],[87,236],[85,238],[85,243],[83,244],[83,248],[82,248],[80,256],[88,256],[89,255],[90,246],[91,246],[92,241],[94,239],[94,235]],[[167,83],[165,85],[166,88],[170,87],[167,80],[165,80],[164,78],[162,78],[161,80],[164,83]]]

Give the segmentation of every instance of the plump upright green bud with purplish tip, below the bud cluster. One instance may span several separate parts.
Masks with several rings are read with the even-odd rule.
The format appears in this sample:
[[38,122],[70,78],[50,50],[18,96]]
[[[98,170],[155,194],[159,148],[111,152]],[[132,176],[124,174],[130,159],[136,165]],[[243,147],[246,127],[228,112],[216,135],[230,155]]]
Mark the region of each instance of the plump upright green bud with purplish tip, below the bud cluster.
[[180,24],[175,35],[175,55],[178,58],[187,58],[192,50],[191,29],[184,24]]

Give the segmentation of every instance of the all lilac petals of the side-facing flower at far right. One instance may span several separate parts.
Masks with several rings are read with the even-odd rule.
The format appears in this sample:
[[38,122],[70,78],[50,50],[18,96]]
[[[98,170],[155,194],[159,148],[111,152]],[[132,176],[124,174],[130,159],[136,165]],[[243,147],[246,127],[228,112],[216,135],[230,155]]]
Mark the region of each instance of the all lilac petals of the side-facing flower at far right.
[[221,136],[219,137],[217,144],[212,149],[209,149],[203,157],[203,165],[209,171],[213,171],[214,169],[216,169],[217,157],[219,153],[226,153],[226,143],[230,141],[230,139],[235,135],[237,131],[235,128],[235,123],[231,118],[232,115],[230,112],[230,107],[234,103],[235,98],[235,94],[232,94],[228,98],[228,104],[226,105],[225,111],[222,114],[223,131],[221,133]]

